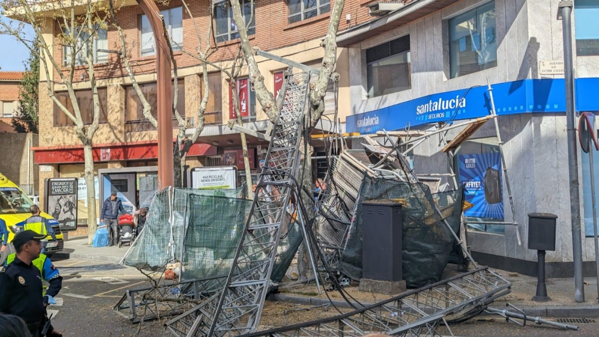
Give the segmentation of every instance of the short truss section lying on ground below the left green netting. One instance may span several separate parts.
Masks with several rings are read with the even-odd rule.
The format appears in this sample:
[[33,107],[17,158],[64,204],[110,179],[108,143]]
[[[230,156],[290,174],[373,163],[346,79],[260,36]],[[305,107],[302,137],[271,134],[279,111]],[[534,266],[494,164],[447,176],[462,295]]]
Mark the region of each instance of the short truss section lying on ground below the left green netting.
[[226,276],[128,289],[113,310],[133,323],[179,315],[223,287]]

